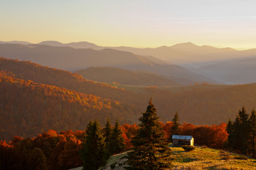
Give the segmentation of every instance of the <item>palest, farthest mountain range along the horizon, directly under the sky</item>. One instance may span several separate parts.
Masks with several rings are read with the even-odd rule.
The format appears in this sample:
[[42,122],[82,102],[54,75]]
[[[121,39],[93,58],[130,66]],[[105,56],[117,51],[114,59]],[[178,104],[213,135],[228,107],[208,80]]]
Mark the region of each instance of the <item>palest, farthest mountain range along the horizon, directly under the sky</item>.
[[[17,41],[20,44],[28,44],[30,42]],[[3,42],[0,42],[3,43]],[[9,41],[5,43],[15,43],[15,41]],[[98,46],[96,44],[82,41],[71,42],[63,44],[58,41],[43,41],[40,45],[51,46],[69,46],[72,48],[91,48],[95,50],[102,49],[116,49],[125,52],[131,52],[142,56],[154,56],[167,62],[174,63],[176,65],[191,67],[201,67],[218,63],[222,61],[229,61],[230,59],[256,57],[256,49],[238,51],[232,48],[215,48],[208,45],[195,45],[192,42],[185,42],[172,46],[160,46],[158,48],[132,48],[127,46]]]

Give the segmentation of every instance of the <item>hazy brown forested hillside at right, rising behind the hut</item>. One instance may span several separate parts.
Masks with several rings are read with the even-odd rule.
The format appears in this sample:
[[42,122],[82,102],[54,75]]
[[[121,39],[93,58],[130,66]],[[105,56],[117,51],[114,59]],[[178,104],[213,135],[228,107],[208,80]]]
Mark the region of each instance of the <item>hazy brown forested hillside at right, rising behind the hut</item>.
[[221,124],[227,122],[229,118],[234,119],[242,105],[247,109],[256,107],[255,96],[255,83],[212,90],[199,87],[176,94],[156,91],[152,95],[163,120],[170,120],[170,114],[177,110],[181,122],[192,122],[195,125]]

